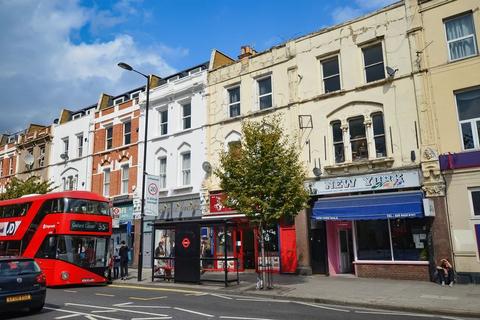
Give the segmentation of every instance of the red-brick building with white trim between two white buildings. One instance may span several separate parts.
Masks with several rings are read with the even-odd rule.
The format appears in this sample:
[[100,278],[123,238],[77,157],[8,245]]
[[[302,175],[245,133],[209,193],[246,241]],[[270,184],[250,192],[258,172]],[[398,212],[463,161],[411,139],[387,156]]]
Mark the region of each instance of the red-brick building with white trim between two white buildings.
[[125,241],[130,262],[136,264],[133,196],[137,184],[139,96],[144,87],[118,96],[102,94],[93,120],[91,191],[112,201],[113,240]]

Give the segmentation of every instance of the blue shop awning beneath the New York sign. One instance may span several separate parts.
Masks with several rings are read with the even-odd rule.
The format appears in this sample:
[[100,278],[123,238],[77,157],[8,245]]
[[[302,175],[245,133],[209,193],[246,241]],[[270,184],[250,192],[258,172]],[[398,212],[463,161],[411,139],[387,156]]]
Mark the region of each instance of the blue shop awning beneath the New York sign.
[[322,198],[315,202],[317,220],[377,220],[423,217],[419,191]]

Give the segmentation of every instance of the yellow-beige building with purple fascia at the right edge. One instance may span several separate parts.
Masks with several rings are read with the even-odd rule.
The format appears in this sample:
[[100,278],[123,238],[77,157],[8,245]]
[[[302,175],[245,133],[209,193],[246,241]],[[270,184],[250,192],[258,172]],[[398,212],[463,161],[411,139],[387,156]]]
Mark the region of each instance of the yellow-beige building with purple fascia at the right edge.
[[434,158],[440,154],[445,188],[436,189],[446,190],[458,280],[479,283],[480,2],[418,2],[421,131]]

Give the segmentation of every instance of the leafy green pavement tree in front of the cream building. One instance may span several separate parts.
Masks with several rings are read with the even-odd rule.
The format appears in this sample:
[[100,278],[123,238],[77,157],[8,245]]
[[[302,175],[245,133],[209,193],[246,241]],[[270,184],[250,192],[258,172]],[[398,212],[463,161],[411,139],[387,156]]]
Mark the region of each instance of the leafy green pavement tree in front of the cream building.
[[227,195],[225,205],[244,213],[259,228],[265,280],[265,230],[282,219],[293,220],[308,201],[299,150],[283,133],[281,115],[242,122],[241,141],[220,153],[214,173]]

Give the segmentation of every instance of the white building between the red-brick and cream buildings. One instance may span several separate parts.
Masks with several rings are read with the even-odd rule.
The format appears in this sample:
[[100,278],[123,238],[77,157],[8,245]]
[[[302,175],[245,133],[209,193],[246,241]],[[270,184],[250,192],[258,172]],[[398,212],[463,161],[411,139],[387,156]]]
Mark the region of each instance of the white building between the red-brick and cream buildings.
[[[166,230],[152,234],[152,221],[200,219],[201,189],[206,160],[206,98],[208,63],[185,69],[158,81],[150,91],[146,172],[159,178],[159,211],[146,216],[143,265],[152,262],[152,236],[166,254],[174,238]],[[145,101],[141,103],[140,152],[143,154]],[[142,164],[141,164],[142,165]],[[139,171],[138,180],[142,181]],[[141,182],[139,182],[141,183]],[[140,184],[139,184],[140,186]],[[140,189],[139,189],[140,192]]]

